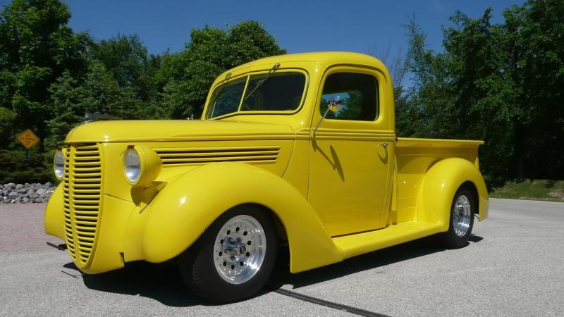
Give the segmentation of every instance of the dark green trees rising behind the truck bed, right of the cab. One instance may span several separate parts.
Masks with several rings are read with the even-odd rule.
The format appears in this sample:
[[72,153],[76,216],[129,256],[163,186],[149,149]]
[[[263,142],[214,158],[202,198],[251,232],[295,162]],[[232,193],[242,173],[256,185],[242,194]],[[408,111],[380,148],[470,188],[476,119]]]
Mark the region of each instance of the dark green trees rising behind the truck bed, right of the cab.
[[410,136],[484,139],[488,180],[563,178],[564,3],[527,1],[503,11],[504,23],[457,12],[443,29],[443,52],[407,25],[407,114]]

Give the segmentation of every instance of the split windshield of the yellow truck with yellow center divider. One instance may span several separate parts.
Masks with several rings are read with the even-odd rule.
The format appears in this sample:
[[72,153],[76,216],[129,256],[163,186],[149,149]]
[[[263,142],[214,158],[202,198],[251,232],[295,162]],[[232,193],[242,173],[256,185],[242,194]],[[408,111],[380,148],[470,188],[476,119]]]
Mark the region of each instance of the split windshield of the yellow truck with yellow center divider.
[[267,74],[245,76],[217,87],[209,102],[206,118],[216,118],[228,113],[298,109],[305,89],[305,74],[271,73],[259,85],[266,76]]

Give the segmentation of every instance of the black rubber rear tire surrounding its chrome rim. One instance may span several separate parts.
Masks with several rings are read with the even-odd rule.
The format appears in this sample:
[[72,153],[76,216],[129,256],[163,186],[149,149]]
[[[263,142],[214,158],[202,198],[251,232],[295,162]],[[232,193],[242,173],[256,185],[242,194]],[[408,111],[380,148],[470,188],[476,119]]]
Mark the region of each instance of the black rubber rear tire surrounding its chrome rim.
[[[465,232],[460,229],[456,229],[455,222],[458,222],[457,214],[460,212],[460,208],[456,208],[457,201],[461,199],[463,204],[464,199],[467,199],[470,204],[470,222],[467,224]],[[476,214],[476,201],[477,197],[474,197],[474,192],[468,187],[460,187],[453,197],[453,202],[450,204],[450,217],[448,220],[448,231],[441,234],[441,243],[444,247],[448,249],[458,249],[468,245],[468,238],[472,234],[472,228],[474,226],[474,214]],[[464,227],[462,225],[462,227]],[[460,228],[460,227],[458,227]],[[462,234],[463,233],[463,234]]]

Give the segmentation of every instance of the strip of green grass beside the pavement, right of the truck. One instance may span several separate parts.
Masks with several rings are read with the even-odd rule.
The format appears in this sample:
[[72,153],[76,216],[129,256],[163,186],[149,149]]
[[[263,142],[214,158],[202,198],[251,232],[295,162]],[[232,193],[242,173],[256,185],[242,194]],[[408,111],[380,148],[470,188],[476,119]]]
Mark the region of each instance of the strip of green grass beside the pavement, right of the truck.
[[493,198],[564,201],[564,180],[506,182],[489,194]]

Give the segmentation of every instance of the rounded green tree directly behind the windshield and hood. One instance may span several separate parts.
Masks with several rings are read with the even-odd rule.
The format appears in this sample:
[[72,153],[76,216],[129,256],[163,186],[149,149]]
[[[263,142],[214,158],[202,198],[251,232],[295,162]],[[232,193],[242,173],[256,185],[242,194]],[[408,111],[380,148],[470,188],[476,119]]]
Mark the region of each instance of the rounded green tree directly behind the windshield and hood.
[[255,21],[240,22],[228,30],[204,27],[192,30],[186,49],[164,57],[156,75],[161,99],[156,109],[162,118],[202,114],[209,87],[223,71],[257,58],[284,54],[264,27]]

